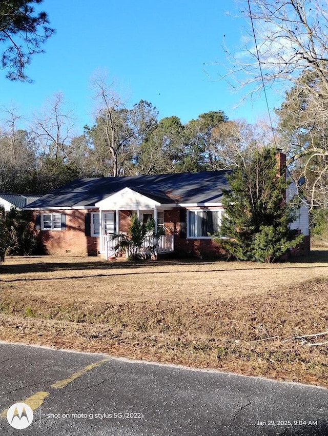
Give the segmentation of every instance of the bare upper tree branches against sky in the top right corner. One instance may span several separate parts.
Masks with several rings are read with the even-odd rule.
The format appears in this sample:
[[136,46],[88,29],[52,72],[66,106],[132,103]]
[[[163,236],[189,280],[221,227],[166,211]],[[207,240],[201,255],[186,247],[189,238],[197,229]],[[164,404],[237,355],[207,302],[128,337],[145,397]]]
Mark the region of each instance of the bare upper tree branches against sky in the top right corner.
[[[253,30],[244,38],[244,47],[230,55],[233,75],[239,85],[294,81],[305,69],[316,71],[327,82],[327,28],[328,10],[319,0],[243,0],[241,13],[253,22]],[[249,8],[249,6],[250,8]],[[251,14],[250,14],[251,11]],[[242,77],[238,74],[242,72]],[[247,74],[245,80],[244,74]]]

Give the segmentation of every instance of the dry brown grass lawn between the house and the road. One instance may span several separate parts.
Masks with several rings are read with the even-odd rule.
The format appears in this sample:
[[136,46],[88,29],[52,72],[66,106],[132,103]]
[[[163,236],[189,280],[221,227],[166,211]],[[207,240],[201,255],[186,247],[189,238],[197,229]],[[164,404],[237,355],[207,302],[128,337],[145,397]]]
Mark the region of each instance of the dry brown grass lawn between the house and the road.
[[10,257],[0,286],[2,340],[328,387],[327,346],[283,341],[328,330],[326,251],[274,265]]

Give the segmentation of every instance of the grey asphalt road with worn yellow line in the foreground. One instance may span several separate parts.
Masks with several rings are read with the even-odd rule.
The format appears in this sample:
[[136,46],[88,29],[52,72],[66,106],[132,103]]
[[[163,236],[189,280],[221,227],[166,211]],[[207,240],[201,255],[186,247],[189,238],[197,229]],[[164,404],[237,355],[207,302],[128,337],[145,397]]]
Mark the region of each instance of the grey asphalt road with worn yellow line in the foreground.
[[0,377],[1,436],[328,435],[324,388],[5,343]]

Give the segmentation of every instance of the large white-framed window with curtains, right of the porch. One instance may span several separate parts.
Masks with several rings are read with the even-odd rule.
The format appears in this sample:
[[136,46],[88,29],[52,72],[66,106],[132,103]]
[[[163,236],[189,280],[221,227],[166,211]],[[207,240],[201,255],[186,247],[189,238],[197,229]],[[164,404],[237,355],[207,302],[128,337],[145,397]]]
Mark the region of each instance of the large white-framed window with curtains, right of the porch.
[[211,237],[217,232],[221,223],[221,210],[188,210],[187,237]]

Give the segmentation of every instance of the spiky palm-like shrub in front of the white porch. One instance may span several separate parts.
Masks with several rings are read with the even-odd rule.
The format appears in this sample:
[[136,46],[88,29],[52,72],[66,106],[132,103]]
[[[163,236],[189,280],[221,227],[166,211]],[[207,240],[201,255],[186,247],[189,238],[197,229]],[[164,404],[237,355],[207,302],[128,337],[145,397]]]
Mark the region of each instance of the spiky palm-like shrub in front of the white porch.
[[130,226],[127,234],[120,233],[113,236],[117,241],[115,250],[125,250],[131,260],[150,259],[156,254],[158,238],[167,234],[165,226],[159,226],[155,231],[153,218],[146,223],[139,220],[136,214],[130,217]]

